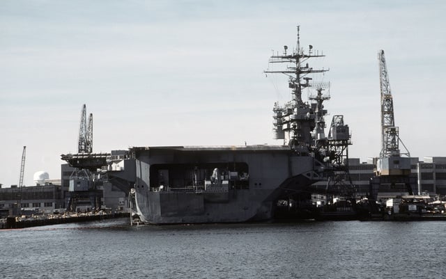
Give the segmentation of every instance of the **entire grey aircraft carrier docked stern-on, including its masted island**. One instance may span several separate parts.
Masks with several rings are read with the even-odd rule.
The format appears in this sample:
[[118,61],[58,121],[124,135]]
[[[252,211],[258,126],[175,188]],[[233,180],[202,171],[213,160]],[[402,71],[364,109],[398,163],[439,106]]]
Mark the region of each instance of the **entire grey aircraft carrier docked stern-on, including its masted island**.
[[[309,65],[323,56],[312,45],[301,47],[299,28],[293,50],[285,46],[270,56],[270,65],[284,69],[265,73],[286,74],[292,96],[272,109],[275,138],[283,145],[134,147],[123,157],[100,157],[107,180],[130,191],[141,221],[155,224],[268,221],[280,201],[289,206],[296,196],[308,196],[314,182],[346,181],[348,125],[334,115],[325,134],[330,85],[313,76],[328,70]],[[62,159],[88,168],[94,155]]]

